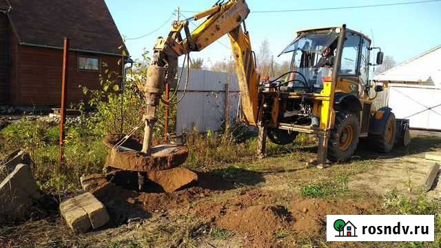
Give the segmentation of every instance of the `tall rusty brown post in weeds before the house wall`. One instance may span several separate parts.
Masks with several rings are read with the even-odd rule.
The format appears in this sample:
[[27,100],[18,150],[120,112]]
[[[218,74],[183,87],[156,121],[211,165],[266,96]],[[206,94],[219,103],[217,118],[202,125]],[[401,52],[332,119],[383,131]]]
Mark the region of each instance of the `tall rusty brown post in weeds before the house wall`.
[[61,167],[64,165],[64,124],[66,121],[66,100],[67,100],[67,87],[68,87],[68,70],[69,70],[69,39],[64,38],[63,47],[63,76],[61,79],[61,118],[60,118],[60,164],[57,169],[60,172]]

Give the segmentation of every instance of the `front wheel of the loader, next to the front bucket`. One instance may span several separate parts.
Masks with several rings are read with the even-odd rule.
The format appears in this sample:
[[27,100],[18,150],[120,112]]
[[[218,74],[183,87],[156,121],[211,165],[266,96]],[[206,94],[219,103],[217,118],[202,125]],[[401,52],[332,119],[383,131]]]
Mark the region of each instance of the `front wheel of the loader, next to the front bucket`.
[[382,134],[369,134],[369,141],[371,148],[377,152],[391,152],[393,144],[395,143],[395,136],[397,132],[397,123],[395,121],[395,115],[389,114],[387,117],[386,125]]

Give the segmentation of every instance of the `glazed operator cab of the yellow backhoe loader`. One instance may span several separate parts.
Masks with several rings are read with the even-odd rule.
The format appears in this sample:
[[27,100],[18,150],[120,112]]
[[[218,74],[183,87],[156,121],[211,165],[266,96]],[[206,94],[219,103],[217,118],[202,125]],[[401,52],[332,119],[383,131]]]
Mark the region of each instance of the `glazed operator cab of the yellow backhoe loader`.
[[[320,94],[323,79],[332,76],[338,50],[340,28],[325,28],[298,32],[282,54],[290,54],[290,71],[280,86],[283,92]],[[342,45],[339,77],[358,78],[351,93],[360,94],[369,88],[369,50],[371,40],[359,32],[346,30]],[[349,92],[348,92],[349,93]]]

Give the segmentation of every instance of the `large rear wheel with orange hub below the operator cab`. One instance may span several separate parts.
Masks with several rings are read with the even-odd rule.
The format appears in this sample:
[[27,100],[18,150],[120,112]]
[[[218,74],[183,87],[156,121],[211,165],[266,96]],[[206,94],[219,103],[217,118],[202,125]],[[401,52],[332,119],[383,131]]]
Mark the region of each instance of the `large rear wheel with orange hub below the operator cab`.
[[353,112],[342,111],[336,115],[334,129],[328,142],[328,159],[332,162],[351,158],[358,145],[360,127],[358,117]]

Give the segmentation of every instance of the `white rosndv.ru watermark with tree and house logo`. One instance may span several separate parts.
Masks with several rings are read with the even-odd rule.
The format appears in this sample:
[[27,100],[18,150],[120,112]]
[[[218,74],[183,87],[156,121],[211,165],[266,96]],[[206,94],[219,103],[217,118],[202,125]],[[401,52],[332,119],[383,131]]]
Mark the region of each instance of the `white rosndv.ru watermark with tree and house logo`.
[[433,215],[327,216],[327,241],[433,241]]

